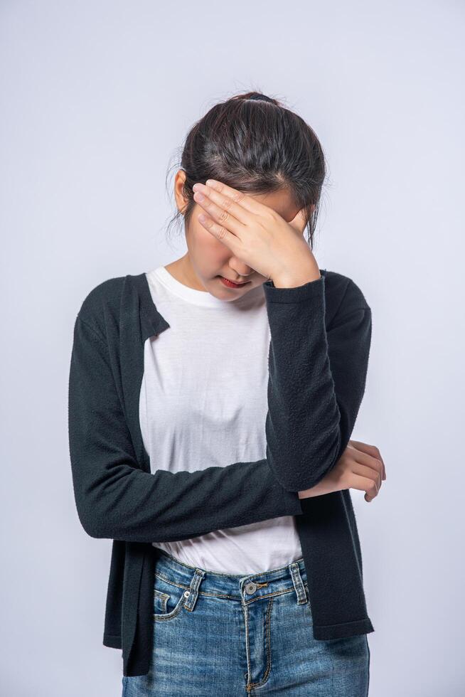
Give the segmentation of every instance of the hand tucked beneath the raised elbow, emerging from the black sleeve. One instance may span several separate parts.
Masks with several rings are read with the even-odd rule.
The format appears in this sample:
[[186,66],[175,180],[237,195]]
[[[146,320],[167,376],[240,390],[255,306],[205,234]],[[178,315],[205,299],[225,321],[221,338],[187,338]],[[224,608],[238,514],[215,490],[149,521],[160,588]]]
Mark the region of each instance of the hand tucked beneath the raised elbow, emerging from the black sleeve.
[[326,476],[311,489],[299,491],[299,499],[331,494],[343,489],[365,491],[365,501],[378,496],[386,470],[379,449],[358,440],[349,440],[338,462]]

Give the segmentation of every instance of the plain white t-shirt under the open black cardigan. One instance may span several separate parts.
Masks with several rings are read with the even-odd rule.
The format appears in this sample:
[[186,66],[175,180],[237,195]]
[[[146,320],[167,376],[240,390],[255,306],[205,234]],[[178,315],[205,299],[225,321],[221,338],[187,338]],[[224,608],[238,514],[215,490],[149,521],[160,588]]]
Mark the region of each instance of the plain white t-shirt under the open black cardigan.
[[[263,459],[270,334],[262,286],[228,302],[164,266],[146,277],[170,325],[144,344],[139,417],[151,472]],[[294,516],[153,544],[191,566],[244,575],[302,555]]]

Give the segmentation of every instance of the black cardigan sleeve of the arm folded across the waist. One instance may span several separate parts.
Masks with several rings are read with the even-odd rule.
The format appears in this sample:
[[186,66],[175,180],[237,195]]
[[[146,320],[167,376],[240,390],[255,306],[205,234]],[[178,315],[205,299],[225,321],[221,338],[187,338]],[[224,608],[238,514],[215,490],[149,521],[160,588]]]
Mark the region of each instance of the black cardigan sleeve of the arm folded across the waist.
[[68,435],[77,514],[95,538],[179,541],[303,512],[298,494],[284,489],[266,459],[196,472],[141,470],[107,343],[79,314],[70,361]]

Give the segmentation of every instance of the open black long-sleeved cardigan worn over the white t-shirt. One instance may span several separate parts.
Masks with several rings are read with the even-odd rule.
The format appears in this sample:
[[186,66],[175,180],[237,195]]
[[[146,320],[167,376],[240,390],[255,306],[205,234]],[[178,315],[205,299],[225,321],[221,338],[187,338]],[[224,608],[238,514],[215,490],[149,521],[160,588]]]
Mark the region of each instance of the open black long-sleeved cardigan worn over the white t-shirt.
[[[109,538],[103,644],[123,674],[149,671],[154,547],[213,530],[296,516],[315,639],[373,632],[350,489],[299,499],[351,438],[363,393],[371,312],[348,277],[277,288],[264,282],[269,345],[267,457],[196,472],[151,473],[139,425],[144,342],[169,324],[146,275],[110,278],[82,302],[68,393],[70,463],[85,531]],[[228,358],[227,356],[225,358]],[[188,356],[186,356],[188,359]]]

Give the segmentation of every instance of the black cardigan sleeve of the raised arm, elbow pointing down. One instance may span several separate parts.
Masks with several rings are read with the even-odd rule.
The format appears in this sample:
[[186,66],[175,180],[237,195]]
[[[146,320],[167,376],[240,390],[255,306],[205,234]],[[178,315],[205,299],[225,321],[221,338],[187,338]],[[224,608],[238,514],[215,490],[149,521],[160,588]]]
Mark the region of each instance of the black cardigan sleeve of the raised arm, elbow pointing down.
[[371,310],[348,279],[326,329],[326,277],[264,282],[270,327],[267,462],[287,491],[311,489],[338,462],[365,391]]

